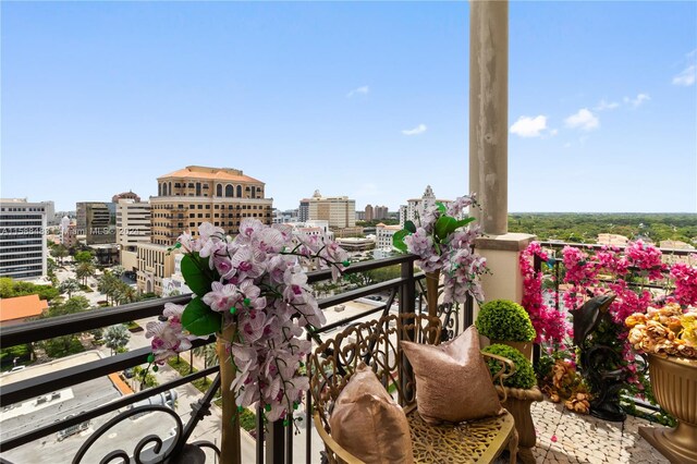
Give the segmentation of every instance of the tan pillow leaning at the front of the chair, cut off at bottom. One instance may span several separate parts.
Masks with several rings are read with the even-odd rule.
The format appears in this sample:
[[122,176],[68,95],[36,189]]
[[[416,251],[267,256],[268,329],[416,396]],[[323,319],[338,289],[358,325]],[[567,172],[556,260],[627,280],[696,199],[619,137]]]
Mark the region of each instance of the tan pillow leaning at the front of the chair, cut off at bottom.
[[404,411],[363,363],[339,393],[329,426],[337,443],[368,464],[414,463]]

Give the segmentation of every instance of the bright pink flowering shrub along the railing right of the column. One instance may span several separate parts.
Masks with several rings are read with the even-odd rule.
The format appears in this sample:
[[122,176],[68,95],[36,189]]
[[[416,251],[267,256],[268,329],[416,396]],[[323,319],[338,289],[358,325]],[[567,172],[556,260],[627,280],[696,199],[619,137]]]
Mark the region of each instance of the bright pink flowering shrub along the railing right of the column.
[[[641,241],[629,243],[623,252],[609,246],[603,246],[595,253],[590,247],[582,249],[566,246],[561,252],[563,268],[559,282],[564,285],[562,302],[566,309],[552,313],[548,310],[549,306],[543,297],[542,272],[535,272],[533,268],[531,258],[535,256],[550,262],[550,267],[555,258],[550,258],[538,243],[531,243],[521,254],[519,267],[524,276],[523,306],[530,314],[533,326],[538,332],[536,341],[554,342],[555,350],[549,346],[553,356],[573,358],[574,352],[566,351],[562,343],[565,332],[570,337],[573,333],[571,329],[560,330],[560,327],[566,326],[565,319],[570,317],[567,310],[573,312],[582,307],[591,295],[615,293],[616,297],[609,307],[611,322],[603,323],[596,330],[594,342],[616,353],[612,365],[604,367],[624,370],[627,379],[625,390],[638,396],[646,394],[651,401],[648,376],[640,364],[637,368],[636,353],[633,351],[633,340],[638,340],[638,334],[629,334],[625,320],[629,316],[635,319],[646,318],[647,314],[651,314],[651,306],[663,306],[665,303],[675,303],[683,307],[696,305],[697,268],[681,262],[672,265],[669,269],[669,266],[662,262],[660,249]],[[690,318],[686,319],[686,327],[694,327]],[[650,326],[651,330],[655,330],[656,326]],[[656,343],[649,346],[656,347]]]

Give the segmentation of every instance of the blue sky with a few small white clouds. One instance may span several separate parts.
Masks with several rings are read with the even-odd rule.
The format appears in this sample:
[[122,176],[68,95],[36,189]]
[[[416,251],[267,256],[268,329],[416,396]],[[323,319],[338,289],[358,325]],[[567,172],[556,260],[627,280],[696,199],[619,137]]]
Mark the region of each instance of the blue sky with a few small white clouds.
[[[2,2],[2,197],[468,191],[466,2]],[[512,2],[511,211],[697,211],[697,3]]]

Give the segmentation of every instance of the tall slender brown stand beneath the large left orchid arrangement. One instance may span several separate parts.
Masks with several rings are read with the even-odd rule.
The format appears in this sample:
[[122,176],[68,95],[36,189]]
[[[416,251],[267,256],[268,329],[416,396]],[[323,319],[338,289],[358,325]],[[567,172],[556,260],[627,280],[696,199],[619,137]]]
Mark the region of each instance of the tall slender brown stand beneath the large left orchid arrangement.
[[[235,379],[235,367],[225,347],[235,334],[235,325],[229,323],[218,333],[218,359],[220,363],[220,391],[222,393],[222,436],[220,442],[221,462],[230,464],[242,463],[242,447],[240,441],[240,415],[230,386]],[[225,343],[227,342],[227,343]]]

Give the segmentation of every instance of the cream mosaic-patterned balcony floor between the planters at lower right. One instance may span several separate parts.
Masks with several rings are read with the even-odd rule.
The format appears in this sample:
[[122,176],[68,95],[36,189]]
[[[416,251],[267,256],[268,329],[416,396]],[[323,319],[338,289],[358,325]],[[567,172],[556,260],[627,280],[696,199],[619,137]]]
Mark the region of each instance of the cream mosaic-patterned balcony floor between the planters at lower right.
[[[533,403],[531,413],[537,430],[533,452],[538,463],[669,464],[639,436],[639,427],[660,427],[648,420],[627,416],[624,423],[609,423],[549,401]],[[508,463],[508,456],[496,462]]]

